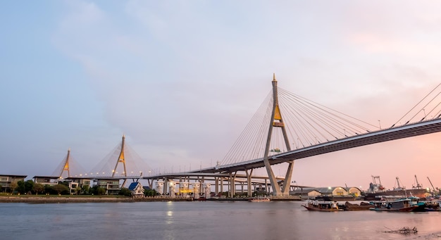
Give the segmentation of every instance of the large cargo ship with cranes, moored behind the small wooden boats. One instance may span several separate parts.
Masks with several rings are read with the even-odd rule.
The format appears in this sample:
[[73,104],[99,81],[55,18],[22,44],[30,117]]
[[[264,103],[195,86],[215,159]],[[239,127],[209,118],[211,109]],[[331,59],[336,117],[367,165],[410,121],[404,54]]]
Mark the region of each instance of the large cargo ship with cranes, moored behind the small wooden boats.
[[430,196],[428,189],[423,189],[420,184],[412,189],[406,189],[406,187],[401,186],[399,178],[396,177],[396,179],[398,187],[392,190],[387,190],[381,184],[380,176],[372,176],[373,181],[369,184],[369,188],[364,194],[364,200],[375,201],[382,196],[395,196],[399,198],[406,198],[407,196],[426,198],[426,196]]

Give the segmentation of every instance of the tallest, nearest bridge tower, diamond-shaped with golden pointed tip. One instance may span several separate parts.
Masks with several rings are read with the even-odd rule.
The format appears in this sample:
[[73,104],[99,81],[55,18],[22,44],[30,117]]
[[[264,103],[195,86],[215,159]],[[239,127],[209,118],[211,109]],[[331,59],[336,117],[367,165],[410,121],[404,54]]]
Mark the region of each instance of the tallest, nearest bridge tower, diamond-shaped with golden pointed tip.
[[266,147],[263,156],[263,163],[265,164],[266,172],[268,172],[268,177],[270,179],[271,187],[273,189],[273,196],[289,196],[292,169],[294,168],[294,160],[290,160],[288,162],[289,165],[285,175],[285,182],[283,182],[283,187],[282,189],[280,189],[268,159],[268,153],[270,151],[270,144],[271,144],[271,135],[273,133],[274,127],[279,127],[282,130],[283,139],[285,139],[285,146],[287,148],[287,151],[291,151],[290,141],[288,140],[287,133],[285,130],[285,123],[282,120],[282,113],[280,113],[279,102],[278,102],[277,80],[275,80],[275,74],[273,74],[273,113],[271,114],[271,122],[269,127],[270,129],[268,131],[268,138],[266,139]]

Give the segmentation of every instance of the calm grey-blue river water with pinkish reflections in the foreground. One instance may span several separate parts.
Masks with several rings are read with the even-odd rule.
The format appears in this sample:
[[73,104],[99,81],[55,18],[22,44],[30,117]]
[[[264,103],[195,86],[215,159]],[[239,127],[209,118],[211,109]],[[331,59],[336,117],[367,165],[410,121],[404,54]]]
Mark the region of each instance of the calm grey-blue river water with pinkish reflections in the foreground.
[[[310,212],[302,202],[0,203],[0,239],[441,239],[441,212]],[[416,234],[385,231],[416,227]]]

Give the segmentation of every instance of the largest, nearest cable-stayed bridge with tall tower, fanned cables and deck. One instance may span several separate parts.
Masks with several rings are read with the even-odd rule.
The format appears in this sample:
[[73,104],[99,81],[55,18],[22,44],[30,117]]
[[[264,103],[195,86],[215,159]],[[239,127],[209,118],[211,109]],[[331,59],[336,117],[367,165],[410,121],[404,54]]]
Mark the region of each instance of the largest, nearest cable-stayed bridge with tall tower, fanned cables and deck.
[[[237,172],[245,172],[248,182],[251,182],[252,171],[264,167],[271,181],[273,195],[287,196],[294,160],[441,132],[440,92],[435,91],[440,85],[394,125],[382,129],[380,121],[379,126],[371,125],[284,89],[278,89],[275,76],[272,83],[271,93],[225,158],[216,167],[193,170],[187,175],[228,173],[234,191]],[[406,122],[402,125],[401,121],[404,120]],[[285,179],[282,181],[275,178],[271,168],[271,165],[280,163],[288,163]]]

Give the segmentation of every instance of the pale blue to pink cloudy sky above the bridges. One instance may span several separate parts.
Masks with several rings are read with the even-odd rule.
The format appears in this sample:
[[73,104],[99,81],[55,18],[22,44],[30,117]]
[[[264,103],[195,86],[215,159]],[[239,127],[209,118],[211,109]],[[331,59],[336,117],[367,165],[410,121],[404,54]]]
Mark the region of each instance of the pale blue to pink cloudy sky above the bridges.
[[[125,134],[159,171],[206,168],[278,86],[392,125],[441,82],[439,1],[6,1],[0,174],[92,169]],[[297,160],[309,186],[441,186],[441,134]],[[273,167],[276,175],[283,165]],[[262,173],[264,173],[262,171]]]

